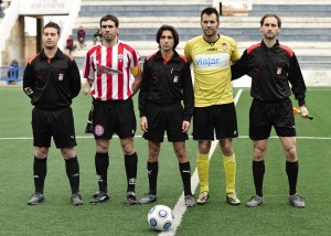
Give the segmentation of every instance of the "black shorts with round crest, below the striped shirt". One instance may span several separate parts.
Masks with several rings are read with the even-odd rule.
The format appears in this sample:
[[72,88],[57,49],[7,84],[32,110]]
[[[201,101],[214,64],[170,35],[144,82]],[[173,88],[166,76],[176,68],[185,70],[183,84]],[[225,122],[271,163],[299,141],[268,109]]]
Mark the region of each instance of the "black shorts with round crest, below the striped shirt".
[[135,137],[137,120],[132,99],[93,101],[93,132],[95,139]]

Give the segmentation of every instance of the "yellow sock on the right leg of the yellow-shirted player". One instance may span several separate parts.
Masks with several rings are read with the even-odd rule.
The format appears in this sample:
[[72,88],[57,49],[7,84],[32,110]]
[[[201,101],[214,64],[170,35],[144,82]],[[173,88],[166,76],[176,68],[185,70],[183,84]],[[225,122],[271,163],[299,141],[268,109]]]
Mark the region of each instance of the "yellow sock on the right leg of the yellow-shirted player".
[[235,154],[231,157],[223,155],[223,165],[226,180],[226,193],[235,192],[236,184],[236,157]]

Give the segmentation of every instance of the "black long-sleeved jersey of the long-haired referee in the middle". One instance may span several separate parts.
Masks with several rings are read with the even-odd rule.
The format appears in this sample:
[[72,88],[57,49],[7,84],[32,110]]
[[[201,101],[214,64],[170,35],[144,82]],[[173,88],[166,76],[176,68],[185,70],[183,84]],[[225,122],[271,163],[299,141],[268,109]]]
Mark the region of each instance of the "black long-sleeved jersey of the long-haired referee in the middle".
[[139,93],[140,117],[146,116],[147,106],[150,104],[168,106],[181,100],[184,105],[183,119],[191,121],[194,95],[188,60],[175,51],[167,63],[160,51],[148,56],[143,63]]

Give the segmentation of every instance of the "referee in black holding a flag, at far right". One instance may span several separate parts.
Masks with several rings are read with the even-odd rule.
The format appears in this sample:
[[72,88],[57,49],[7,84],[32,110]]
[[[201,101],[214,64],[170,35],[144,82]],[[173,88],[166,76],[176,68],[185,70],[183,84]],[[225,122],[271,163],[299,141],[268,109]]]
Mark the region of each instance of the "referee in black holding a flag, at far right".
[[277,40],[280,28],[281,21],[277,14],[264,15],[260,20],[263,41],[245,50],[242,58],[232,66],[233,79],[245,74],[252,77],[249,138],[254,143],[253,176],[256,194],[247,202],[249,207],[264,203],[264,160],[271,127],[280,139],[286,157],[289,203],[295,207],[305,207],[302,197],[297,193],[299,164],[293,109],[289,97],[292,92],[302,117],[306,117],[306,85],[293,51]]

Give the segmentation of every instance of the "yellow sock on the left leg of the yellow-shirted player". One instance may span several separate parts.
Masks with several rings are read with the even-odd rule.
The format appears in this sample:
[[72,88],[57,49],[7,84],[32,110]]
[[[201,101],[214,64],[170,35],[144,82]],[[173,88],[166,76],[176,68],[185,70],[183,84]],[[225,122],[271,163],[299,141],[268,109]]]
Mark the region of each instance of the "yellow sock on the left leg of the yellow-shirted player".
[[210,171],[210,158],[207,154],[201,154],[197,152],[196,159],[196,168],[197,168],[197,175],[199,175],[199,184],[200,184],[200,192],[209,192],[209,171]]

